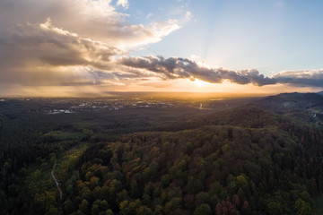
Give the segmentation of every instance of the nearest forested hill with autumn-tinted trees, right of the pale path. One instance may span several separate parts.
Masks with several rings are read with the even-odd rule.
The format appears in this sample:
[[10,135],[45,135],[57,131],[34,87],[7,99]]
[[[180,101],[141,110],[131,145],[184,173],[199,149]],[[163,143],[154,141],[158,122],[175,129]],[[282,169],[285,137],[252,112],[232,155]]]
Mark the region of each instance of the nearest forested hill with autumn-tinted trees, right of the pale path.
[[[90,193],[113,191],[100,201],[117,214],[311,214],[322,192],[321,125],[252,106],[208,124],[93,145],[79,183]],[[77,206],[83,188],[74,193]],[[97,207],[93,198],[82,201]]]

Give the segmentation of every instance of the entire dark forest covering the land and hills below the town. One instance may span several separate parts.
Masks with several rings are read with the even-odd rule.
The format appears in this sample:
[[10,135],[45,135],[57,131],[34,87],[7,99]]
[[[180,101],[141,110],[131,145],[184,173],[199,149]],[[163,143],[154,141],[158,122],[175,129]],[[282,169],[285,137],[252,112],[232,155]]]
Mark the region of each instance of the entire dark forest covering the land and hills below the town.
[[313,214],[323,191],[322,100],[284,94],[203,114],[118,112],[110,122],[3,108],[0,213]]

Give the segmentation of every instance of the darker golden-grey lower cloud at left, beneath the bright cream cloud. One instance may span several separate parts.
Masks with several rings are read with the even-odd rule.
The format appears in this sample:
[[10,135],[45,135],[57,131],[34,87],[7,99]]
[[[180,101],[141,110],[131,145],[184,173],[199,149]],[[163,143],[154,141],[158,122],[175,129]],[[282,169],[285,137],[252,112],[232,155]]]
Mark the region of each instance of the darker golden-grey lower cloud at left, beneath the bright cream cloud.
[[68,78],[71,83],[79,82],[82,76],[77,77],[74,69],[67,68],[92,65],[108,70],[113,68],[114,57],[124,53],[117,47],[58,29],[49,19],[41,24],[16,25],[0,36],[0,82],[65,85],[60,81]]

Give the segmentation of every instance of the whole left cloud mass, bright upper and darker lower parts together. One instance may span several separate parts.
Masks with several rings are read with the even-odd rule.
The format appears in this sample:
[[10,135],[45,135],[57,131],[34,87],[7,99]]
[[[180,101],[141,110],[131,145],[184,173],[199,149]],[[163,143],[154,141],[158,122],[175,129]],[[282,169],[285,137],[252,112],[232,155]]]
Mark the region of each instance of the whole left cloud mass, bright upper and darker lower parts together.
[[161,40],[184,22],[142,25],[127,17],[109,0],[0,1],[0,83],[118,85],[141,79],[145,75],[138,71],[121,71],[115,59],[127,49]]

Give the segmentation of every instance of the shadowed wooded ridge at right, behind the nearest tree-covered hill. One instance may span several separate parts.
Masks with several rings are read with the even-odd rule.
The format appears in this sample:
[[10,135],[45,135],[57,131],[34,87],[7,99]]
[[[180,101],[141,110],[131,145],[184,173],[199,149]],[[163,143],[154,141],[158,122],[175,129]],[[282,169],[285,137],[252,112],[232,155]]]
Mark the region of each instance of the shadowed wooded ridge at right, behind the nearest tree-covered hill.
[[264,127],[277,125],[278,118],[291,117],[293,120],[314,123],[323,120],[322,93],[283,93],[258,99],[248,105],[231,108],[221,113],[188,119],[172,129],[197,128],[203,125],[237,125]]

